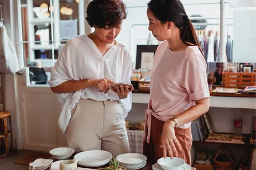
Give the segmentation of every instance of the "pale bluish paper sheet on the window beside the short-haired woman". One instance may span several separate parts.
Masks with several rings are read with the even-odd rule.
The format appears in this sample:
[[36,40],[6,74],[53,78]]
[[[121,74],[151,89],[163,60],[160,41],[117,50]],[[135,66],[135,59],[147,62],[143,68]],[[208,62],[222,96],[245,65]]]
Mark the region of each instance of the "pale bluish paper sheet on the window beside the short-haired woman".
[[69,40],[77,36],[77,19],[60,20],[60,39]]

